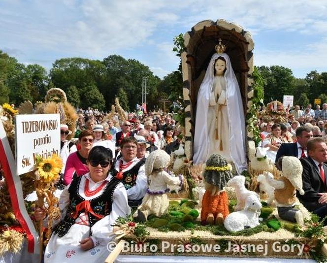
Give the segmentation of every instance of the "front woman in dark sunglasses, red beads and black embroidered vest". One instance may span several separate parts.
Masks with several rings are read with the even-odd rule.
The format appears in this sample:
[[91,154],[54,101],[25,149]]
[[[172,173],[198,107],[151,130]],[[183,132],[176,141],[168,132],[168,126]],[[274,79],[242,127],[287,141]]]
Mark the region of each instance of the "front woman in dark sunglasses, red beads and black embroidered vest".
[[[123,184],[108,172],[112,152],[94,147],[87,158],[90,172],[75,177],[59,201],[60,222],[45,249],[44,262],[104,262],[110,251],[107,244],[115,236],[113,227],[118,217],[126,217],[131,209]],[[35,219],[46,214],[35,209]]]

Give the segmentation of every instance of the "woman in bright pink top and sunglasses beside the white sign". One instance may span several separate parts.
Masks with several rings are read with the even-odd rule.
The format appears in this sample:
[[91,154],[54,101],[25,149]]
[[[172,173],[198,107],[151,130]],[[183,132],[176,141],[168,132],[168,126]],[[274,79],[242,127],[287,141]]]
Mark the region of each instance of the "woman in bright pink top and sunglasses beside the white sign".
[[64,174],[65,185],[70,184],[74,173],[76,173],[77,176],[80,176],[89,172],[86,160],[93,146],[93,141],[93,132],[89,130],[85,130],[78,135],[78,142],[81,148],[78,151],[70,154],[67,158]]

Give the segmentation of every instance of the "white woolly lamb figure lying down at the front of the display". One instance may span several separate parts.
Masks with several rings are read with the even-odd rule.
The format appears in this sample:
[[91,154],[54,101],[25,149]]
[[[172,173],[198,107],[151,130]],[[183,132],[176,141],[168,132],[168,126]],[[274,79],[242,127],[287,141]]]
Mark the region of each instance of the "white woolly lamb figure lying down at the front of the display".
[[224,226],[229,232],[254,228],[259,226],[262,204],[256,195],[246,197],[244,209],[230,213],[224,221]]

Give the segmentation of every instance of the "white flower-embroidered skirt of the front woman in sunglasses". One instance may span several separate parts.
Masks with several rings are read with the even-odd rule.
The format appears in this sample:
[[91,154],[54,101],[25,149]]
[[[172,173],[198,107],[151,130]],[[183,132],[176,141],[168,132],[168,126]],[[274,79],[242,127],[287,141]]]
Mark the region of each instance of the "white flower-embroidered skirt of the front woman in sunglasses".
[[53,233],[44,252],[44,263],[92,262],[103,263],[110,252],[106,244],[83,251],[79,241],[89,237],[89,226],[74,224],[63,236]]

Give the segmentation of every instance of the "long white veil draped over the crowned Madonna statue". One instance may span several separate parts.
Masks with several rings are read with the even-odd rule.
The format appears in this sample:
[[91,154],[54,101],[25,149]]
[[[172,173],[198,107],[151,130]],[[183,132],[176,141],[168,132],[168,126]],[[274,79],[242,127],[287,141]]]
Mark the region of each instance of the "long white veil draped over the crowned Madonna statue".
[[226,53],[213,54],[204,79],[197,94],[196,105],[196,126],[194,136],[194,164],[205,163],[209,158],[208,135],[208,107],[209,98],[214,80],[215,60],[223,57],[226,60],[226,92],[227,92],[227,111],[229,119],[229,149],[233,163],[236,166],[237,173],[240,174],[247,168],[246,147],[245,147],[245,118],[241,93],[238,87],[237,79],[231,67],[229,56]]

